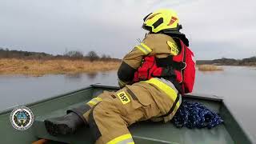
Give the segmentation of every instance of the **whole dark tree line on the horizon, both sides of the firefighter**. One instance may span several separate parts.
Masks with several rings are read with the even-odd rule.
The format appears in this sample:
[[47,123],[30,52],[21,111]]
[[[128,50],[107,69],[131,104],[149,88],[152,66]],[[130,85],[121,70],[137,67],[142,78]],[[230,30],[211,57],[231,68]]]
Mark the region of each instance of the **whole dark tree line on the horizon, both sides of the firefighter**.
[[[65,54],[47,54],[43,52],[31,52],[22,50],[8,50],[0,47],[0,58],[22,58],[22,59],[69,59],[69,60],[86,60],[86,61],[121,61],[118,58],[111,58],[110,55],[102,54],[99,56],[95,51],[89,51],[87,54],[83,54],[78,50],[70,50]],[[219,58],[214,60],[197,60],[198,65],[203,64],[216,64],[227,66],[256,66],[256,56],[243,59],[234,58]]]

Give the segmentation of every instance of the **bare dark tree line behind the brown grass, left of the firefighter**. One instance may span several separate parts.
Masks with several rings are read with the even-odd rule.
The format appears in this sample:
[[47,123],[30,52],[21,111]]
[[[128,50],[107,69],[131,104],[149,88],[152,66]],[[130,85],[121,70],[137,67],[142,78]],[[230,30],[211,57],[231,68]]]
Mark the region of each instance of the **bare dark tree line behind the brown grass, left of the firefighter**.
[[47,54],[43,52],[31,52],[22,50],[8,50],[0,48],[0,58],[22,58],[22,59],[69,59],[69,60],[87,60],[93,61],[120,61],[118,58],[111,58],[110,55],[102,54],[99,56],[95,51],[89,51],[87,54],[83,54],[78,50],[70,50],[65,54]]

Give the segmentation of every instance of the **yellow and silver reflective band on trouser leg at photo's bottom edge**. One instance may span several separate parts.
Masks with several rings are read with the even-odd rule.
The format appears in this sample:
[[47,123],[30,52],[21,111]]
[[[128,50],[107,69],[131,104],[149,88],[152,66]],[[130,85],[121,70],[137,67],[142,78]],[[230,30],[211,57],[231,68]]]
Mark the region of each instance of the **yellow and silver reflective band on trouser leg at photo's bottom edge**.
[[134,140],[131,134],[124,134],[119,136],[118,138],[114,138],[113,140],[107,142],[106,144],[134,144]]

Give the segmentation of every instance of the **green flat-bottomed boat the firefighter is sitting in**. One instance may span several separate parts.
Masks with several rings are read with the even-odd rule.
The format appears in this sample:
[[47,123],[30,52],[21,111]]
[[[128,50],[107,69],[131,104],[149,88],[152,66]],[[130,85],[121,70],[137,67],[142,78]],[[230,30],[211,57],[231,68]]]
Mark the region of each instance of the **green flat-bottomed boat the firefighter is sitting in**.
[[[51,136],[44,126],[46,118],[58,117],[66,114],[66,110],[86,103],[103,90],[116,91],[117,86],[91,85],[80,90],[74,90],[52,98],[46,98],[38,102],[26,104],[34,113],[34,123],[28,130],[16,130],[10,123],[10,113],[13,108],[0,112],[0,137],[2,144],[47,144],[70,143],[91,144],[93,136],[87,127],[81,128],[75,134],[66,136]],[[234,118],[232,111],[226,106],[222,98],[214,95],[186,94],[183,99],[193,102],[201,102],[210,110],[217,112],[224,119],[224,123],[212,129],[188,129],[176,128],[171,122],[138,122],[129,126],[136,144],[230,144],[253,143],[249,134]]]

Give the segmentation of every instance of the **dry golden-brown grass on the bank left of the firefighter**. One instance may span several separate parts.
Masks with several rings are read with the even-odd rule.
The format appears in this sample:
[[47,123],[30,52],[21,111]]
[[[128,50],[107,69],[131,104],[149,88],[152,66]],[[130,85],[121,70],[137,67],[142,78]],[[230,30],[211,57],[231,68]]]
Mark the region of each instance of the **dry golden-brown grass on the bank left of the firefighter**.
[[117,70],[121,62],[88,62],[83,60],[23,60],[0,59],[0,74],[74,74]]

